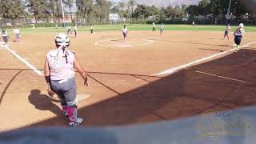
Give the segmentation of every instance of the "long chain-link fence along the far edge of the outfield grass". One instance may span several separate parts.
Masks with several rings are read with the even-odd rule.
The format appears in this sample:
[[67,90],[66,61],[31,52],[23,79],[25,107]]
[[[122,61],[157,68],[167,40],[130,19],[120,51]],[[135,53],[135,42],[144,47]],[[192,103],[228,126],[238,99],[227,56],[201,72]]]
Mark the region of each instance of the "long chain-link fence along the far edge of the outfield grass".
[[[225,25],[226,18],[121,18],[116,21],[108,18],[74,18],[72,21],[66,19],[64,22],[62,18],[19,18],[19,19],[0,19],[1,27],[12,28],[13,26],[19,26],[20,28],[37,28],[37,27],[56,27],[56,26],[90,26],[90,25],[123,25],[123,24],[152,24],[164,23],[164,24],[191,24],[195,22],[197,25]],[[250,18],[232,18],[230,19],[231,25],[237,25],[239,22],[248,25],[256,25],[256,20]]]

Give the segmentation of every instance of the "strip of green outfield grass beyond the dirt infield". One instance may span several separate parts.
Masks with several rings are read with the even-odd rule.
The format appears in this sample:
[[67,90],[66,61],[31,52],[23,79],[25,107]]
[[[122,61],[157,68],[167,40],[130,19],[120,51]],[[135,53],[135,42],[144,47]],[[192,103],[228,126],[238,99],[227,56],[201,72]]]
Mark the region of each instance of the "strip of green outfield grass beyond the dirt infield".
[[[128,30],[152,30],[152,25],[127,25]],[[234,31],[236,26],[231,26],[231,31]],[[224,31],[226,26],[193,26],[190,25],[165,25],[165,30],[195,30],[195,31]],[[121,31],[122,25],[118,26],[94,26],[94,31]],[[157,25],[159,30],[159,25]],[[7,30],[9,33],[10,30]],[[78,26],[78,31],[89,32],[90,26]],[[245,26],[246,32],[256,32],[256,26]],[[36,29],[21,29],[22,34],[38,34],[38,33],[58,33],[66,32],[65,28],[59,27],[58,29],[47,27],[47,28],[36,28]]]

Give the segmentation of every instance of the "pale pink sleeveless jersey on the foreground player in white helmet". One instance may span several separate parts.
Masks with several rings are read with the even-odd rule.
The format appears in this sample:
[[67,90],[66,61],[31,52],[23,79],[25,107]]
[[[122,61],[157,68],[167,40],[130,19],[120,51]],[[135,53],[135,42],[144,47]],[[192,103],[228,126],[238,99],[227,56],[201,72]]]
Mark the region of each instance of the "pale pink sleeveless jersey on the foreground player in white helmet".
[[66,50],[66,55],[67,62],[62,50],[51,50],[47,54],[50,80],[58,81],[74,77],[74,53]]

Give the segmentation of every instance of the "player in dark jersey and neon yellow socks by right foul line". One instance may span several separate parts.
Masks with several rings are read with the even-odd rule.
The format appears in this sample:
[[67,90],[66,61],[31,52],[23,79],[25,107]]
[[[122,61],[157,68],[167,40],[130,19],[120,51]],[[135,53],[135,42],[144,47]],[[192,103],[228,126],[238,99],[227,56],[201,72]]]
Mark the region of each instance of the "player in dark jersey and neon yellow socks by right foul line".
[[234,31],[234,45],[233,47],[236,47],[236,51],[238,52],[238,50],[240,50],[240,43],[242,41],[243,38],[243,34],[245,32],[245,30],[243,30],[243,23],[240,23],[238,28]]

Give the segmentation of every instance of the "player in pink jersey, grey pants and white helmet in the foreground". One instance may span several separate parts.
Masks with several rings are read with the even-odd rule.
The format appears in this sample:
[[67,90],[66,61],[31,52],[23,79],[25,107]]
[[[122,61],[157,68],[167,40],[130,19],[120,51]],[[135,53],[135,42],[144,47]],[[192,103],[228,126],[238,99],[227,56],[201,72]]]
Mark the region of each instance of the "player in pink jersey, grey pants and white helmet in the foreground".
[[77,86],[74,78],[74,68],[87,84],[85,70],[78,62],[74,52],[68,49],[70,38],[66,34],[58,34],[55,38],[56,50],[48,52],[45,61],[45,78],[48,84],[48,94],[58,95],[64,115],[72,127],[79,126],[82,118],[77,117]]

